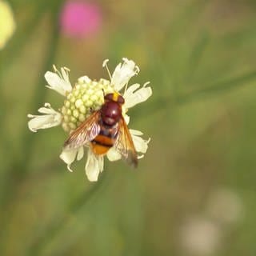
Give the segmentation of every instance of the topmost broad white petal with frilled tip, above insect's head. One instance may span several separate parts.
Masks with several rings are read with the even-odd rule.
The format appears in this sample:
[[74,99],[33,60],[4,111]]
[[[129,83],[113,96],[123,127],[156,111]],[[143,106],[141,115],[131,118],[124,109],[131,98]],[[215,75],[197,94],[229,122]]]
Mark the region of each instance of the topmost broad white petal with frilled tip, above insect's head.
[[122,60],[123,62],[118,64],[111,78],[111,84],[118,91],[122,90],[122,87],[129,82],[130,78],[139,72],[138,66],[135,65],[134,61],[127,58],[122,58]]

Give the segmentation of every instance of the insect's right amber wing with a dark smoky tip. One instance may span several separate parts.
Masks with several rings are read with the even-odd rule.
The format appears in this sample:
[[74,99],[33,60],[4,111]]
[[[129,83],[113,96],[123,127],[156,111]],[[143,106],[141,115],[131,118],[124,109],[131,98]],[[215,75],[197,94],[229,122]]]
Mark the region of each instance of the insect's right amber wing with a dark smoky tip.
[[131,166],[138,166],[138,157],[134,147],[134,142],[126,125],[126,121],[123,118],[119,121],[118,138],[114,143],[114,148],[122,154],[122,157],[125,158],[126,162]]

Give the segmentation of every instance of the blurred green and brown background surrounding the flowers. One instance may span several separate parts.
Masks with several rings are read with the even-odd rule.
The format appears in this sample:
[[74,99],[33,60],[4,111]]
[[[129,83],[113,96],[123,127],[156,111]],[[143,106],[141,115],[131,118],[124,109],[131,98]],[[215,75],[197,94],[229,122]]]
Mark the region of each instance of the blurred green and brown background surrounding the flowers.
[[[256,254],[256,3],[94,1],[93,34],[59,30],[65,1],[9,2],[17,29],[0,50],[0,255]],[[0,17],[1,19],[1,17]],[[63,98],[45,88],[52,64],[108,78],[122,57],[150,81],[130,110],[151,142],[138,170],[59,159],[61,127],[31,133],[26,114]]]

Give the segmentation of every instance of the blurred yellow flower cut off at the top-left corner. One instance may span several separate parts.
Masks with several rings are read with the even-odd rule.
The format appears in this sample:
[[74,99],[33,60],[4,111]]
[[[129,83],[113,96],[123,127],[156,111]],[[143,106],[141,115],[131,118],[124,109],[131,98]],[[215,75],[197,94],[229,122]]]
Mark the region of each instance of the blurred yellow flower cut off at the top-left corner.
[[15,30],[14,14],[10,5],[0,0],[0,50],[6,45]]

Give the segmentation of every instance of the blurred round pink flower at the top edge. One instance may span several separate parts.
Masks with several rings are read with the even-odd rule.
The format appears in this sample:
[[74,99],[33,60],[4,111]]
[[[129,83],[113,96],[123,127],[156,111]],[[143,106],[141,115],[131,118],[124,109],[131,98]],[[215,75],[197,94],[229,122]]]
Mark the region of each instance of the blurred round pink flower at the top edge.
[[94,34],[102,24],[102,14],[94,3],[67,1],[62,8],[60,26],[63,34],[82,38]]

